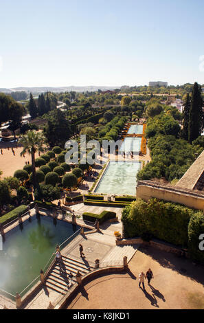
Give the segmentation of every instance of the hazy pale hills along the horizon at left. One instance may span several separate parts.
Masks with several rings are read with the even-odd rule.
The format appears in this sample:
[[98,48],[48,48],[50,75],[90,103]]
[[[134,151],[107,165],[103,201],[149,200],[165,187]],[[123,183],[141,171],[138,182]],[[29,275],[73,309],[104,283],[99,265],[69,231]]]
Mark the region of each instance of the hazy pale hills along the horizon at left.
[[102,91],[106,90],[113,90],[117,87],[95,87],[95,86],[89,86],[89,87],[14,87],[12,89],[0,89],[0,92],[3,93],[12,93],[15,91],[25,91],[27,93],[44,93],[47,91],[50,92],[70,92],[70,91],[76,91],[76,92],[86,92],[86,91],[98,91],[98,89]]

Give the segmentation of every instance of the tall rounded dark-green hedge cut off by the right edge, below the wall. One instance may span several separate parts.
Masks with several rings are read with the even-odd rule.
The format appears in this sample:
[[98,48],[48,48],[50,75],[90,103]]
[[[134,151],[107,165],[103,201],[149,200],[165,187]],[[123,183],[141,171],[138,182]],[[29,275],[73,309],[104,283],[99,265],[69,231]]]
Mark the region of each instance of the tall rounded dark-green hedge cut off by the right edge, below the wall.
[[[204,263],[204,252],[199,249],[199,237],[204,234],[204,216],[202,212],[192,215],[188,225],[188,247],[193,259]],[[203,239],[202,239],[203,240]]]

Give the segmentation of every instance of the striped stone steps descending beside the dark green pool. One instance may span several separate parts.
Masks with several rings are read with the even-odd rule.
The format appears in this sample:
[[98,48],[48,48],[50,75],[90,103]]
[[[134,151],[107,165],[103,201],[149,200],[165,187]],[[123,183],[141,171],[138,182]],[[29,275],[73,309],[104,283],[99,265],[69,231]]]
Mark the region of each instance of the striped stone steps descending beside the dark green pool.
[[[54,269],[46,279],[46,287],[52,289],[61,295],[65,295],[70,287],[76,282],[76,274],[85,275],[91,271],[91,267],[85,265],[80,259],[74,259],[67,256],[62,256],[62,265],[56,263]],[[72,277],[70,278],[70,274]]]

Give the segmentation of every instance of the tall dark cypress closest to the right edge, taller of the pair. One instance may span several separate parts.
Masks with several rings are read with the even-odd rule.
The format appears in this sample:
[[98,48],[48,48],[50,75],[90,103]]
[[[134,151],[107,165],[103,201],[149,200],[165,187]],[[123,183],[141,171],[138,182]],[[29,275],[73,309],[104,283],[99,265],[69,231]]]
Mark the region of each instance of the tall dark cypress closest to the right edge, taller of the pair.
[[203,99],[201,86],[194,83],[188,124],[188,141],[190,144],[201,135],[203,130]]

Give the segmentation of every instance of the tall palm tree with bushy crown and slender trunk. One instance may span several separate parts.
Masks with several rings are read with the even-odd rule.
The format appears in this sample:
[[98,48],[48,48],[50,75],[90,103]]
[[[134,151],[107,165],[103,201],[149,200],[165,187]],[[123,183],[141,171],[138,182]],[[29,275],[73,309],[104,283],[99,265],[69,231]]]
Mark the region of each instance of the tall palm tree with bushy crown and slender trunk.
[[45,151],[45,148],[43,148],[45,141],[46,139],[43,133],[39,133],[34,130],[27,131],[25,135],[22,135],[21,140],[19,141],[19,143],[23,146],[21,156],[23,156],[25,153],[28,153],[32,158],[32,175],[34,188],[36,188],[37,186],[35,153],[37,151],[41,151],[42,153]]

